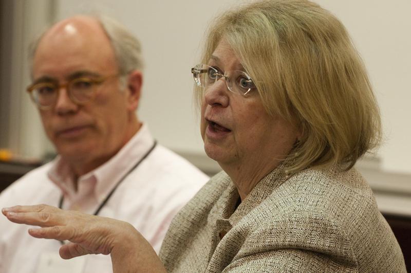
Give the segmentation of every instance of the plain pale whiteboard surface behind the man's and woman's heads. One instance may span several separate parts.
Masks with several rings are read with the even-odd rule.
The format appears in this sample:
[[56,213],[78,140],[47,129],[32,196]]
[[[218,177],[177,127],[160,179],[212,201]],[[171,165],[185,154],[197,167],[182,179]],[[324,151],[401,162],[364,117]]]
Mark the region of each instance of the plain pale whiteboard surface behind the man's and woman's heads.
[[[139,115],[158,140],[174,150],[203,154],[193,110],[190,67],[210,19],[234,0],[58,1],[57,17],[79,10],[116,17],[143,43],[146,72]],[[244,1],[242,1],[244,2]],[[337,15],[360,51],[380,103],[385,144],[382,168],[411,173],[411,1],[318,0]],[[164,75],[161,75],[164,73]]]

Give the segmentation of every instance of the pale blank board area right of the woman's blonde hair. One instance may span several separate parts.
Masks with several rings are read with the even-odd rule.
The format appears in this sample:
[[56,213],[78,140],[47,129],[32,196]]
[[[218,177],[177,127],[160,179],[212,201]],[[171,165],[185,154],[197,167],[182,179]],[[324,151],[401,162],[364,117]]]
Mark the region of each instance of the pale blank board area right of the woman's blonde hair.
[[368,68],[384,124],[383,168],[411,173],[411,1],[317,3],[341,19]]

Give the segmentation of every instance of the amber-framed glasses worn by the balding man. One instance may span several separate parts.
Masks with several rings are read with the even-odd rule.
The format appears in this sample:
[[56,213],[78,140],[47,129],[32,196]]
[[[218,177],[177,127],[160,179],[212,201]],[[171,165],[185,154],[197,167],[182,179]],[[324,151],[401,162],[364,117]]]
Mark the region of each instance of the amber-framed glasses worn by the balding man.
[[45,110],[52,107],[58,100],[59,90],[64,87],[68,97],[77,104],[84,104],[94,98],[98,85],[105,80],[118,75],[106,77],[80,77],[74,78],[67,83],[58,82],[39,82],[27,87],[31,100],[41,109]]

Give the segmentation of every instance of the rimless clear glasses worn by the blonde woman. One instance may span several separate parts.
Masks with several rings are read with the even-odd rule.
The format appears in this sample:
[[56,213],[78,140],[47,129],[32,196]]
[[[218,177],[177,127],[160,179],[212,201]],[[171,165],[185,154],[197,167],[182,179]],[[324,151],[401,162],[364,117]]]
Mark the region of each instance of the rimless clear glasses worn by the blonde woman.
[[256,89],[253,80],[244,71],[230,70],[225,73],[218,68],[207,64],[198,64],[191,68],[194,81],[200,87],[208,88],[216,83],[219,79],[224,78],[227,88],[236,94],[247,95],[251,90]]

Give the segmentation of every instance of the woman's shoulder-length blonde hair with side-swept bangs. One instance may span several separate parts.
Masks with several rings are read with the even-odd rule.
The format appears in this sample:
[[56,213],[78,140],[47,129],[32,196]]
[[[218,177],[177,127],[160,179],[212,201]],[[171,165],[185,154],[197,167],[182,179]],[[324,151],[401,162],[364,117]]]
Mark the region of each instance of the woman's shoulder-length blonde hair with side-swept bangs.
[[335,163],[350,169],[378,146],[380,114],[367,72],[329,11],[305,0],[267,0],[225,12],[210,28],[202,63],[221,39],[254,80],[265,110],[302,131],[288,171]]

